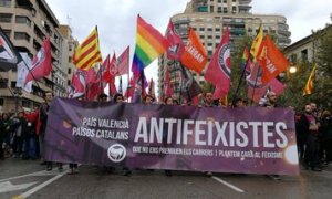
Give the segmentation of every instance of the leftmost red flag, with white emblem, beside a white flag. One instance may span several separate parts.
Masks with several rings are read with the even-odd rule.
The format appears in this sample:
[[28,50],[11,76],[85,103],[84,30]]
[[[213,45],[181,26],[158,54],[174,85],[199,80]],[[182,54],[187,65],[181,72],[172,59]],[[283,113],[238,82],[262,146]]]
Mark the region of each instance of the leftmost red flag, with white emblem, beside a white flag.
[[[49,76],[52,71],[52,59],[51,59],[51,42],[50,38],[44,40],[42,48],[38,51],[37,56],[32,61],[30,73],[28,73],[24,86],[28,82],[33,78],[40,80],[44,76]],[[32,76],[33,75],[33,76]]]

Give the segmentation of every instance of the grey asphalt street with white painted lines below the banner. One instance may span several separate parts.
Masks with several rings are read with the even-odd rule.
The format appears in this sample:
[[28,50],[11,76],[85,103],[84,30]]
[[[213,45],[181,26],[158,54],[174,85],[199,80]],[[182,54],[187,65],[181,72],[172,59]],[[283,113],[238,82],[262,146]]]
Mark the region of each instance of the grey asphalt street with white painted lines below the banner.
[[80,166],[69,175],[53,167],[45,171],[39,160],[8,158],[0,161],[0,198],[331,198],[332,165],[322,172],[301,170],[298,177],[274,180],[263,175],[231,175],[163,170],[133,170],[129,177],[116,168]]

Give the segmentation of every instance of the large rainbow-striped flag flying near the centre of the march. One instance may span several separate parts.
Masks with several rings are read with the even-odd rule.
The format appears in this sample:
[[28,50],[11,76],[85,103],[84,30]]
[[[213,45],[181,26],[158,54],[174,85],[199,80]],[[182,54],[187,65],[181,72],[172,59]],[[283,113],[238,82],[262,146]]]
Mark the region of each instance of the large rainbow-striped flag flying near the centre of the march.
[[132,72],[141,72],[168,48],[167,40],[151,24],[137,17],[137,33]]

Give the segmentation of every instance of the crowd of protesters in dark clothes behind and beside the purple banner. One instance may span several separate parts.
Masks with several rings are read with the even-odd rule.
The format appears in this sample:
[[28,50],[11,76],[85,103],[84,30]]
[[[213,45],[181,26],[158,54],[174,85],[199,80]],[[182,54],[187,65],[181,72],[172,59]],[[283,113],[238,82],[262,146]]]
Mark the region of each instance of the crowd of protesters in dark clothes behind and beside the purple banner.
[[[101,94],[98,102],[107,102],[108,96]],[[46,166],[46,170],[52,170],[54,163],[42,159],[43,139],[46,129],[50,104],[53,94],[44,94],[44,103],[37,112],[24,113],[23,109],[18,114],[3,113],[0,117],[0,158],[17,157],[22,159],[41,159],[41,164]],[[76,97],[83,101],[84,96]],[[115,94],[110,101],[124,103],[125,97],[122,94]],[[146,95],[143,100],[146,105],[157,104],[155,97]],[[198,103],[194,104],[186,98],[179,101],[172,97],[165,97],[162,104],[183,105],[198,107],[234,107],[240,108],[247,106],[242,98],[234,100],[229,105],[225,98],[212,100],[212,93],[199,95]],[[260,106],[267,108],[281,107],[277,104],[277,96],[273,92],[267,94],[267,101]],[[38,114],[35,114],[38,113]],[[167,133],[167,130],[165,130]],[[303,113],[295,115],[295,133],[299,150],[299,160],[304,169],[321,171],[324,166],[332,163],[332,117],[330,111],[317,108],[314,103],[305,105]],[[167,137],[165,134],[163,137]],[[59,171],[62,171],[62,164],[56,163]],[[76,174],[77,164],[70,164],[70,174]],[[172,176],[169,170],[165,170],[166,176]],[[123,175],[129,176],[131,170],[123,168]]]

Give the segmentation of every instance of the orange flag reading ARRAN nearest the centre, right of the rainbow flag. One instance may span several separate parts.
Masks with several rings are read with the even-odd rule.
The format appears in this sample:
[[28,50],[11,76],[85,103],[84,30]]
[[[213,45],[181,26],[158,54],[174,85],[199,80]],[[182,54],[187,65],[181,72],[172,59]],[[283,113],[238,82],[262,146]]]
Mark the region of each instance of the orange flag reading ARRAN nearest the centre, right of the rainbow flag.
[[181,54],[180,62],[189,70],[200,74],[207,63],[207,53],[198,35],[190,28],[187,45]]

